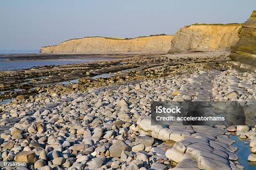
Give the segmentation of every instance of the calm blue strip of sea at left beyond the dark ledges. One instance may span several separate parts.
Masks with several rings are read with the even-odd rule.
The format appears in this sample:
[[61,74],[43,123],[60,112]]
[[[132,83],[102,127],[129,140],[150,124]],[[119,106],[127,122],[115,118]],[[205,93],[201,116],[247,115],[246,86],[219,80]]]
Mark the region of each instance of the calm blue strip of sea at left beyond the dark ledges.
[[111,60],[113,58],[98,58],[98,59],[76,59],[76,60],[15,60],[6,61],[0,60],[0,71],[26,69],[40,65],[63,65],[82,62],[92,62],[96,60]]

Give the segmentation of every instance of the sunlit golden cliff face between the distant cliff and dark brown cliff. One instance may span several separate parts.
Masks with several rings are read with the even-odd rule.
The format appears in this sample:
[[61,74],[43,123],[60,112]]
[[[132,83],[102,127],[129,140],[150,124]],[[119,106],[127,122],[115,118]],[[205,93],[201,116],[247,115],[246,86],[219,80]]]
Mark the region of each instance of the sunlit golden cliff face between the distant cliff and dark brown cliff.
[[202,24],[181,28],[172,38],[172,45],[168,53],[188,50],[228,51],[231,45],[236,44],[240,28],[240,24]]

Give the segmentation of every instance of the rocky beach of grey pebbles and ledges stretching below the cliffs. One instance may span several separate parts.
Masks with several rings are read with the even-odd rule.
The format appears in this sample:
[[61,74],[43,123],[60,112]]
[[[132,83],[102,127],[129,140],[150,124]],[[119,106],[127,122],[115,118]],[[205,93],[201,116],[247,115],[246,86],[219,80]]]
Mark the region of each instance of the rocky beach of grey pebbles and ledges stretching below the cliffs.
[[[256,73],[235,70],[228,55],[144,55],[12,71],[20,75],[13,86],[29,76],[51,75],[39,80],[46,85],[36,86],[36,95],[18,95],[0,106],[1,159],[25,161],[28,169],[38,170],[243,169],[236,155],[239,148],[233,146],[236,140],[229,135],[250,140],[248,160],[256,161],[254,126],[165,127],[151,126],[150,119],[152,101],[233,100],[255,110]],[[69,75],[75,74],[73,68],[81,68],[87,77]],[[58,77],[53,76],[56,72],[62,75],[61,69],[67,75],[63,77],[78,82],[47,85]],[[109,72],[116,73],[91,78]],[[58,78],[56,82],[63,80]],[[246,116],[255,120],[254,112]]]

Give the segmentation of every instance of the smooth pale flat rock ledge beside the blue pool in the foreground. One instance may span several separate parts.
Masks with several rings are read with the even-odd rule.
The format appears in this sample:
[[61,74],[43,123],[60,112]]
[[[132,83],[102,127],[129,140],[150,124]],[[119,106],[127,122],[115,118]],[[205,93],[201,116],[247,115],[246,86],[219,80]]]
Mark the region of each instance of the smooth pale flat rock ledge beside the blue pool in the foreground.
[[177,143],[165,153],[169,160],[177,163],[174,170],[238,170],[233,161],[238,160],[232,144],[221,127],[211,126],[161,126],[151,125],[151,117],[143,116],[137,121],[141,134],[151,135],[159,140],[173,140]]

